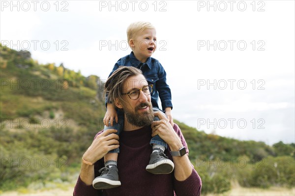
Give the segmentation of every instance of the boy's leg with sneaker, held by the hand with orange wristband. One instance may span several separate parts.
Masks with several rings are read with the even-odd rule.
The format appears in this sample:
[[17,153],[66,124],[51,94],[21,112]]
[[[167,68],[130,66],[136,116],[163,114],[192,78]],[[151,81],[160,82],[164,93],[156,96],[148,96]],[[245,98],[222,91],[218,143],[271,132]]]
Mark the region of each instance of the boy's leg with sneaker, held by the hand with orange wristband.
[[[123,129],[124,119],[122,118],[123,117],[118,114],[118,123],[114,121],[113,126],[105,126],[104,131],[110,128],[116,129],[118,130],[117,134],[119,135],[119,133]],[[109,125],[110,124],[111,123],[109,123]],[[92,182],[92,186],[95,189],[110,189],[121,185],[117,168],[118,153],[119,148],[116,148],[114,150],[110,150],[104,156],[105,167],[99,170],[101,175],[96,177]]]

